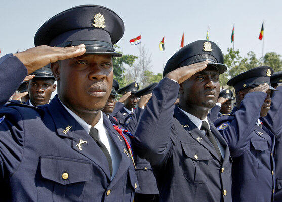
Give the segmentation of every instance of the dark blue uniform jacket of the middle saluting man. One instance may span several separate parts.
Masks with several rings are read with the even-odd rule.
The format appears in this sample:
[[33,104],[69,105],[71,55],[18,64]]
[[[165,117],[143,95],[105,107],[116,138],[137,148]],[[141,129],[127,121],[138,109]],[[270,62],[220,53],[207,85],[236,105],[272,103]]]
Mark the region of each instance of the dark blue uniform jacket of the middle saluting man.
[[160,201],[231,201],[228,145],[209,121],[225,149],[221,162],[206,135],[174,105],[178,91],[171,79],[157,84],[133,139],[140,158],[157,171]]

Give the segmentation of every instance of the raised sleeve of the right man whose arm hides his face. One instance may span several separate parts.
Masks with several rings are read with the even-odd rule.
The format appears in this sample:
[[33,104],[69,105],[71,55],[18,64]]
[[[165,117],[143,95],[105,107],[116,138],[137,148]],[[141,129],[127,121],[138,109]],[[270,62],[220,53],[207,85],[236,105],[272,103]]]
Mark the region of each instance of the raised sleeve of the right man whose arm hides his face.
[[264,92],[246,94],[240,109],[234,113],[234,119],[227,123],[228,126],[225,129],[219,130],[229,146],[231,157],[241,156],[247,148],[266,95]]

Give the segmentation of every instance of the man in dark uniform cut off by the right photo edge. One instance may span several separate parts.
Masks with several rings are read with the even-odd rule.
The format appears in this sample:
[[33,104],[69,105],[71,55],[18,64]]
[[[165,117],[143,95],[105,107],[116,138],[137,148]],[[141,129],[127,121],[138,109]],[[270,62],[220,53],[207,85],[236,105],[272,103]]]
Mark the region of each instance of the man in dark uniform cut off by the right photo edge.
[[282,71],[274,72],[270,77],[271,86],[276,90],[271,95],[271,106],[265,117],[262,117],[262,123],[275,135],[275,194],[274,201],[282,201]]

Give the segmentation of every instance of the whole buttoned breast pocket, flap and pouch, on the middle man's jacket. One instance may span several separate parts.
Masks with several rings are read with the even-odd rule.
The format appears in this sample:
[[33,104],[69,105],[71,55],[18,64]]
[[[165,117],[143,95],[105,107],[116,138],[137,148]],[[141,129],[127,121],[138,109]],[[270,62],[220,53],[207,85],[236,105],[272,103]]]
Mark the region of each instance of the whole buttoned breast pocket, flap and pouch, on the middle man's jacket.
[[183,175],[193,183],[206,183],[209,176],[209,151],[198,144],[181,143],[184,152]]

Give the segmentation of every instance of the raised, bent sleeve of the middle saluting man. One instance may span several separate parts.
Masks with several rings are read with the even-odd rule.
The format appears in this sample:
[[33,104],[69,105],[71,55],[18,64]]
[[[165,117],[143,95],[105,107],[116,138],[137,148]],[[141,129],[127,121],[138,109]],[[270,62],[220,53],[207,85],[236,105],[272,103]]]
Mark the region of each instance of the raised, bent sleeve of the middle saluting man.
[[140,118],[133,142],[136,152],[152,165],[163,165],[172,150],[174,102],[179,84],[163,78],[154,88]]

